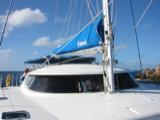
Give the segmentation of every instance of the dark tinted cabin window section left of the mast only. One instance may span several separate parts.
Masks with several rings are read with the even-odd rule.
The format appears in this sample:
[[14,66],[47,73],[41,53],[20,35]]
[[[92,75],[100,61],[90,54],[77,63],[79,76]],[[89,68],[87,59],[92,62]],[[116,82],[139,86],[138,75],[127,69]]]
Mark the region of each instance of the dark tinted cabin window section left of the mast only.
[[29,82],[28,86],[30,89],[39,92],[98,92],[103,91],[101,77],[101,75],[32,76],[32,81]]

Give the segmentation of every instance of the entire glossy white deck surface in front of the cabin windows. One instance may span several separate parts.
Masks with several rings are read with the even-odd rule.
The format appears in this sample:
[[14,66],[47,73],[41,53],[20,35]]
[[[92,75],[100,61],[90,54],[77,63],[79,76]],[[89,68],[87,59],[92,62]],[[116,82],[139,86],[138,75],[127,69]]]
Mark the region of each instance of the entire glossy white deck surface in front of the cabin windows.
[[160,92],[39,93],[21,88],[1,91],[0,112],[26,110],[32,120],[129,120],[160,118]]

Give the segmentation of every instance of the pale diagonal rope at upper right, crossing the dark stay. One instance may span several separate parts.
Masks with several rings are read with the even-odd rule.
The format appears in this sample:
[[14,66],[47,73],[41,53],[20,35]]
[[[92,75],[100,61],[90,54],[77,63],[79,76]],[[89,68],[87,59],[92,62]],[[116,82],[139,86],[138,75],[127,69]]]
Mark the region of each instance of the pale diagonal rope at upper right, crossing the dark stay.
[[[140,22],[142,21],[142,19],[144,18],[145,14],[147,13],[147,11],[148,11],[149,7],[151,6],[151,3],[152,3],[152,2],[153,2],[153,0],[151,0],[151,1],[149,2],[149,4],[147,5],[147,7],[145,8],[145,10],[144,10],[144,12],[142,13],[141,17],[138,19],[138,22],[136,23],[135,28],[138,27],[139,23],[140,23]],[[131,31],[131,33],[127,35],[126,39],[124,39],[124,41],[122,42],[123,44],[126,44],[127,40],[130,38],[130,36],[131,36],[132,33],[133,33],[133,32]],[[122,45],[123,45],[123,44],[122,44]]]

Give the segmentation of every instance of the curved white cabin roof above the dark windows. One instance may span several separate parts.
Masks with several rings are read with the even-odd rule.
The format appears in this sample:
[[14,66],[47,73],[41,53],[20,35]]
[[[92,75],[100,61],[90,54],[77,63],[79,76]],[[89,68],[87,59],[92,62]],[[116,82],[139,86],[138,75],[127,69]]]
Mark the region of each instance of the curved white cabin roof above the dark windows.
[[[125,69],[116,68],[116,73],[127,72]],[[102,65],[94,64],[62,64],[50,65],[29,73],[30,75],[93,75],[103,74]]]

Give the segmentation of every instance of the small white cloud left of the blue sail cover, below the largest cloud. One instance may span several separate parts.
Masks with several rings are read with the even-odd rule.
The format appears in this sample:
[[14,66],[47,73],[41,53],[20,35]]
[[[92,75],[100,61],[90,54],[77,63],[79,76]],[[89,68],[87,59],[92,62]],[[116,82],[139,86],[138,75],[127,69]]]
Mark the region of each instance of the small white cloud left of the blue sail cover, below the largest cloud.
[[32,45],[38,46],[38,47],[49,47],[51,45],[51,42],[49,39],[50,39],[49,37],[38,38],[37,40],[34,41]]

